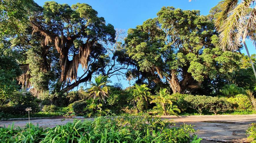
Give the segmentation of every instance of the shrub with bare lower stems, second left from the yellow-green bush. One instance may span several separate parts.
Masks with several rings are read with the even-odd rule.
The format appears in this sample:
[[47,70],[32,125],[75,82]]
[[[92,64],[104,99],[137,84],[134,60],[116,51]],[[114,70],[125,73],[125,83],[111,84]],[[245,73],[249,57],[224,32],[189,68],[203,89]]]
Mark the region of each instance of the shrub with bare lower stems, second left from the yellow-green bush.
[[196,109],[197,112],[202,115],[203,109],[207,107],[207,99],[208,97],[205,95],[188,95],[184,98],[184,101],[187,102],[190,108]]

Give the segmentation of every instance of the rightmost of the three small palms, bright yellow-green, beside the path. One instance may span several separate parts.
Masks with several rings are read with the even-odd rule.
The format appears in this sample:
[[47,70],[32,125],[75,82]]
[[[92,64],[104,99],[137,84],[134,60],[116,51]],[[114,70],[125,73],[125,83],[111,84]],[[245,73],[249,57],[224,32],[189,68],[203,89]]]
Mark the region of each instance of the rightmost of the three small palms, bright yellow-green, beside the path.
[[[163,115],[169,115],[169,113],[174,114],[174,111],[176,111],[176,106],[172,106],[172,101],[174,100],[170,93],[167,91],[166,88],[161,88],[159,93],[152,97],[152,101],[150,103],[155,103],[159,112],[162,112]],[[161,109],[159,109],[161,108]]]

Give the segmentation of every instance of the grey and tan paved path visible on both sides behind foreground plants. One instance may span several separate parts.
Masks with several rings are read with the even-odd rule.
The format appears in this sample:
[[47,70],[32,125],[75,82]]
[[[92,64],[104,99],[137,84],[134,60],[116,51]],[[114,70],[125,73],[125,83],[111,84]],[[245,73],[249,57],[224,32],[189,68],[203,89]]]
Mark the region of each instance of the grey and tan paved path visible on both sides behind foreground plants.
[[[198,137],[210,137],[214,139],[241,139],[246,138],[245,132],[249,124],[256,122],[256,115],[233,115],[233,116],[189,116],[189,117],[175,117],[175,116],[161,116],[167,120],[173,120],[179,124],[192,124],[198,130],[196,134]],[[80,118],[81,120],[93,120],[93,118]],[[36,119],[30,120],[33,124],[39,124],[44,127],[54,127],[56,125],[66,124],[73,119],[65,119],[61,121],[60,118]],[[14,120],[14,121],[0,121],[0,126],[8,126],[14,123],[15,126],[23,127],[28,123],[28,120]],[[206,143],[210,141],[202,141]]]

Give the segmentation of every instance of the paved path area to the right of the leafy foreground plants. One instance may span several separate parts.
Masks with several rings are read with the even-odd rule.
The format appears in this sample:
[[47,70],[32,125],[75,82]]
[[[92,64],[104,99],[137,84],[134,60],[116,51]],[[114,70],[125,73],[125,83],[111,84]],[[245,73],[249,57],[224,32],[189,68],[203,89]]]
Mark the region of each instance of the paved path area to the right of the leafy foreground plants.
[[[210,137],[214,139],[241,139],[246,138],[246,130],[249,124],[256,122],[256,116],[238,116],[238,117],[183,117],[166,118],[174,120],[179,124],[186,123],[195,125],[196,134],[199,137]],[[210,141],[202,140],[202,143]],[[213,142],[212,142],[213,143]]]

